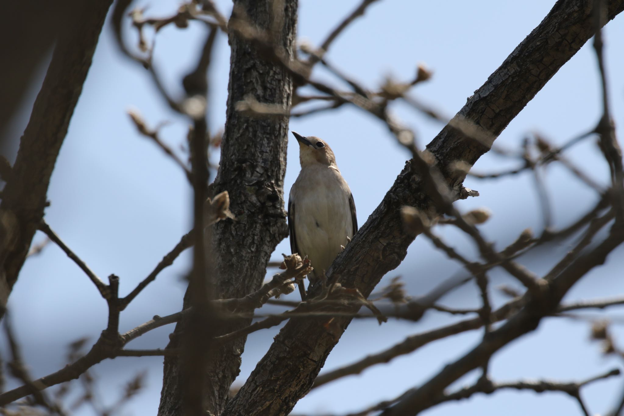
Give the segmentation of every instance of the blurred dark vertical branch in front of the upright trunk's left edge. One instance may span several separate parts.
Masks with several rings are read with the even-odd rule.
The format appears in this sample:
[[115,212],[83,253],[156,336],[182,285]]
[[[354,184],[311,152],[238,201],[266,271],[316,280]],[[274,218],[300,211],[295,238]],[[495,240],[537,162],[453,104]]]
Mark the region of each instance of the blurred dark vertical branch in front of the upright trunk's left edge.
[[[197,230],[193,234],[193,266],[185,294],[185,303],[188,303],[191,311],[183,322],[186,327],[185,331],[177,334],[180,337],[182,351],[178,360],[181,375],[180,387],[184,391],[181,405],[182,411],[188,415],[199,415],[212,410],[205,408],[204,396],[214,389],[213,380],[207,377],[206,365],[212,353],[216,351],[212,338],[217,332],[219,317],[217,309],[211,302],[215,297],[216,268],[212,245],[213,228],[207,224],[205,204],[208,199],[207,184],[210,178],[207,140],[210,137],[207,117],[210,84],[207,70],[212,62],[217,30],[217,27],[210,28],[197,68],[185,77],[188,81],[185,84],[188,94],[187,102],[195,100],[196,106],[199,107],[197,110],[187,111],[193,120],[190,153],[193,178],[193,226]],[[210,206],[212,207],[212,204]],[[167,349],[176,348],[177,346],[171,343],[167,346]]]

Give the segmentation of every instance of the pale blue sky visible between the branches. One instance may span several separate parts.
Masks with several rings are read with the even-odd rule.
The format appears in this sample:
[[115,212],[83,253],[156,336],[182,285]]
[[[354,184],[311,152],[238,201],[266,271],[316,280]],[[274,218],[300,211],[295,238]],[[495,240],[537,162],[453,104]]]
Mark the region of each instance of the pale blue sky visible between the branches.
[[[359,0],[301,0],[300,3],[298,36],[318,45]],[[138,6],[147,4],[150,8],[146,14],[162,16],[175,11],[178,2],[137,2]],[[369,87],[379,85],[387,74],[401,80],[411,79],[416,65],[423,62],[434,72],[434,77],[418,85],[414,96],[446,115],[453,115],[539,24],[552,4],[552,0],[527,0],[522,4],[500,0],[383,0],[369,7],[366,15],[334,42],[328,59]],[[230,2],[218,1],[218,6],[229,15]],[[624,17],[620,16],[610,22],[604,31],[612,114],[618,127],[624,125],[622,19]],[[180,79],[193,66],[202,42],[203,27],[198,24],[191,24],[185,31],[167,27],[158,35],[155,62],[173,95],[182,94]],[[228,63],[227,41],[220,36],[210,69],[209,117],[213,129],[225,122]],[[497,143],[518,147],[525,135],[535,131],[555,143],[563,143],[592,128],[600,117],[596,69],[591,42],[588,42],[510,123]],[[340,85],[322,70],[314,72],[314,76]],[[24,114],[32,100],[34,95]],[[139,109],[151,126],[163,120],[171,121],[162,129],[162,137],[172,147],[179,148],[184,142],[186,121],[170,112],[145,71],[117,51],[107,25],[52,175],[51,206],[46,210],[46,220],[100,277],[105,278],[110,273],[120,276],[122,293],[134,288],[188,231],[191,209],[185,177],[149,140],[137,135],[125,114],[130,107]],[[406,105],[393,104],[392,110],[416,130],[421,146],[442,127]],[[21,134],[26,122],[26,118],[16,120],[11,131]],[[353,191],[360,224],[381,201],[408,157],[378,120],[351,107],[293,119],[290,127],[331,143],[338,165]],[[286,195],[299,171],[297,152],[293,141],[288,152]],[[607,165],[592,140],[568,154],[593,178],[603,183],[607,180]],[[485,155],[477,162],[475,170],[492,172],[511,165],[495,155]],[[553,166],[548,173],[547,186],[553,195],[557,225],[575,218],[595,201],[591,191],[560,168]],[[503,246],[524,228],[540,229],[541,218],[532,185],[530,175],[497,181],[469,178],[466,186],[479,190],[481,196],[458,205],[462,210],[478,206],[492,210],[491,220],[481,228],[486,236]],[[445,228],[440,228],[439,233],[462,253],[475,255],[472,244],[464,236]],[[42,236],[37,235],[35,241],[41,239]],[[568,245],[553,245],[523,261],[536,273],[543,273],[568,248]],[[280,253],[289,250],[288,241],[282,241],[273,257],[278,259]],[[614,251],[608,263],[577,284],[567,299],[624,293],[623,254],[622,248]],[[122,314],[122,330],[147,321],[154,314],[165,315],[180,309],[184,291],[181,277],[188,267],[188,259],[188,253],[178,259],[132,302]],[[386,279],[400,274],[409,293],[418,295],[457,270],[459,266],[434,251],[426,239],[417,238],[406,261]],[[493,276],[492,286],[515,284],[502,274]],[[500,304],[504,298],[494,293],[494,300]],[[479,296],[470,285],[444,299],[445,304],[456,307],[477,306],[478,301]],[[64,347],[69,341],[83,336],[94,340],[105,327],[105,302],[89,279],[52,245],[27,261],[9,307],[27,362],[37,376],[64,364]],[[617,314],[618,311],[614,309],[613,312]],[[621,314],[622,310],[619,312]],[[354,322],[329,356],[326,369],[348,364],[447,321],[446,316],[431,313],[416,324],[391,321],[378,327],[374,321]],[[130,347],[163,347],[170,331],[171,326],[154,331]],[[502,380],[519,377],[580,380],[614,366],[621,367],[622,363],[617,360],[600,356],[598,346],[588,341],[588,332],[587,324],[546,319],[537,331],[505,347],[494,357],[492,376]],[[264,331],[249,337],[239,382],[244,382],[275,333],[276,330]],[[472,348],[480,336],[480,332],[470,332],[439,341],[388,365],[378,365],[362,375],[326,385],[308,394],[295,410],[308,414],[316,411],[341,414],[389,399],[424,382]],[[620,339],[624,344],[624,337]],[[137,370],[149,370],[147,388],[125,414],[155,414],[162,385],[161,362],[159,357],[119,358],[97,365],[94,371],[105,386],[104,396],[110,399],[116,397],[117,387],[121,389]],[[467,382],[469,378],[456,385]],[[612,407],[623,386],[624,382],[619,379],[599,382],[584,389],[583,395],[592,412],[604,413]],[[477,395],[458,404],[436,407],[426,414],[446,416],[459,412],[464,415],[580,414],[578,405],[563,394],[527,392]],[[86,415],[89,411],[80,414]]]

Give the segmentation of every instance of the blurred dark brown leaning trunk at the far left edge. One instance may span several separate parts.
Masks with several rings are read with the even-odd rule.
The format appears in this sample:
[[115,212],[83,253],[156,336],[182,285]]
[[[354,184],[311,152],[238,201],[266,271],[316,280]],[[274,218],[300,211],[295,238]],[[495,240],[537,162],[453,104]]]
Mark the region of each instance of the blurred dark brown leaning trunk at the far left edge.
[[[0,306],[17,281],[46,207],[54,163],[82,92],[112,0],[72,1],[22,135],[0,205]],[[2,316],[0,308],[0,317]]]

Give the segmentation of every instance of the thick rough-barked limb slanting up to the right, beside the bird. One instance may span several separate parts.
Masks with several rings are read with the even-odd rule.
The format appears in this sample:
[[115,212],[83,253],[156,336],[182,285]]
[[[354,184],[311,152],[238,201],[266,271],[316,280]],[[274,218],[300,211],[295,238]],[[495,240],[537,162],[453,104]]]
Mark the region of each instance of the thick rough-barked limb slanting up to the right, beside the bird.
[[[624,0],[608,4],[609,19],[624,9]],[[594,32],[592,1],[558,1],[544,21],[468,99],[453,122],[427,146],[452,188],[459,188],[465,174],[449,167],[460,161],[472,165],[487,152],[492,140]],[[484,140],[470,138],[475,135]],[[414,172],[413,161],[407,162],[378,208],[334,261],[329,274],[338,273],[343,286],[356,287],[365,295],[371,293],[384,274],[401,263],[414,239],[403,231],[399,216],[403,205],[434,209]],[[343,330],[349,321],[340,321]],[[310,390],[338,342],[323,322],[291,319],[222,415],[288,414]]]

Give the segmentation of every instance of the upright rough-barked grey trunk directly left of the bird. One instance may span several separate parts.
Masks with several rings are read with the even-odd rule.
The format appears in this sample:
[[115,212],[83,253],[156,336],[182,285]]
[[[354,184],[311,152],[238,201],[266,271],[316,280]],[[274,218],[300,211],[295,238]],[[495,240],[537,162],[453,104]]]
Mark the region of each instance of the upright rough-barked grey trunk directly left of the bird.
[[[270,30],[276,42],[292,56],[295,42],[297,1],[236,0],[259,29]],[[246,16],[245,16],[246,15]],[[235,16],[233,16],[235,17]],[[288,117],[254,118],[235,109],[236,102],[252,95],[258,102],[283,105],[290,109],[293,85],[280,65],[270,64],[256,54],[248,42],[230,34],[230,82],[227,120],[219,172],[213,186],[216,193],[228,191],[230,209],[236,221],[221,221],[213,228],[213,254],[217,261],[215,297],[243,297],[260,288],[266,264],[275,246],[288,235],[283,186],[286,172]],[[250,323],[230,321],[218,327],[216,335],[231,332]],[[175,333],[183,331],[180,322]],[[230,385],[240,371],[245,338],[220,347],[206,369],[213,389],[205,394],[205,410],[220,414]],[[177,337],[169,347],[177,346]],[[158,415],[180,415],[182,387],[179,362],[165,359],[163,389]]]

